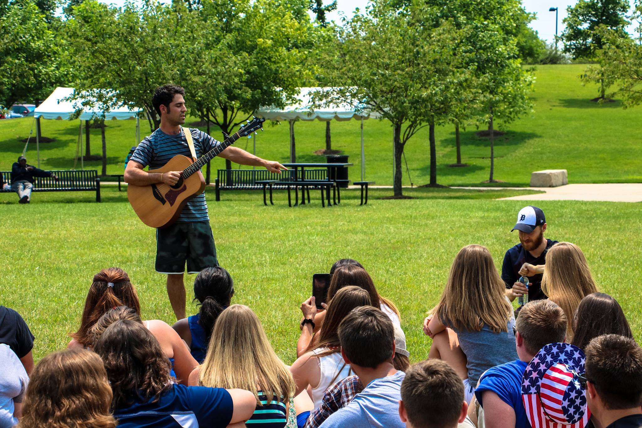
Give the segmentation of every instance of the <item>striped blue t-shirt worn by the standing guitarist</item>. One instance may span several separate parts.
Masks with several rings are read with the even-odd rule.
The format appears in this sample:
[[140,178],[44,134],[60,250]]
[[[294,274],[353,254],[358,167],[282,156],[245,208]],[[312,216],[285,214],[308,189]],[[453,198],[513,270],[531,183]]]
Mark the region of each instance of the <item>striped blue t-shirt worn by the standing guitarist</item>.
[[[192,134],[194,141],[194,150],[196,157],[201,157],[214,147],[221,144],[219,141],[213,139],[207,133],[196,128],[188,128]],[[189,146],[187,146],[187,139],[182,129],[177,135],[169,135],[158,128],[152,135],[148,135],[138,145],[130,160],[134,160],[143,167],[149,166],[152,169],[164,166],[169,159],[176,155],[184,155],[189,158],[192,157]],[[184,209],[178,216],[177,221],[195,222],[195,221],[209,221],[207,215],[207,203],[205,202],[205,192],[195,196],[192,200],[187,201]]]

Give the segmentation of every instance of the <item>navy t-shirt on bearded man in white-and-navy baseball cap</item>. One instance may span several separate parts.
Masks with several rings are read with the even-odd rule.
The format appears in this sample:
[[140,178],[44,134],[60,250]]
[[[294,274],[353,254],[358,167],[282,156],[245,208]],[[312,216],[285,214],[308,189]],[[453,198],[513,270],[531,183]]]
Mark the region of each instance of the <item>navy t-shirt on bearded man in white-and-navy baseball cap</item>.
[[[539,257],[533,257],[533,255],[522,248],[521,243],[517,244],[512,248],[508,248],[508,251],[504,255],[504,262],[501,265],[501,279],[504,280],[507,288],[512,288],[513,284],[517,282],[519,277],[519,270],[525,263],[530,264],[546,264],[546,253],[551,249],[553,244],[557,244],[557,241],[551,241],[551,239],[546,239],[546,249],[542,251]],[[531,300],[541,300],[547,298],[544,292],[542,291],[542,274],[538,273],[532,277],[528,277],[528,301]]]

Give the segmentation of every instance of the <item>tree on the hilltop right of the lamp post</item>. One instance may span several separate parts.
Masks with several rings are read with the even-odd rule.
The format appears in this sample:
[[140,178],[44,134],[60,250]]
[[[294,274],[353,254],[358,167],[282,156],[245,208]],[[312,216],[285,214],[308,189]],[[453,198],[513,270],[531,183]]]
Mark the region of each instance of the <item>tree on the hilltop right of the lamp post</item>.
[[[594,59],[594,51],[603,48],[602,35],[598,28],[604,26],[625,37],[625,27],[629,21],[625,14],[629,12],[627,0],[578,0],[575,6],[566,8],[567,17],[562,20],[566,29],[562,32],[564,51],[573,58]],[[604,99],[607,85],[600,80],[600,97]]]

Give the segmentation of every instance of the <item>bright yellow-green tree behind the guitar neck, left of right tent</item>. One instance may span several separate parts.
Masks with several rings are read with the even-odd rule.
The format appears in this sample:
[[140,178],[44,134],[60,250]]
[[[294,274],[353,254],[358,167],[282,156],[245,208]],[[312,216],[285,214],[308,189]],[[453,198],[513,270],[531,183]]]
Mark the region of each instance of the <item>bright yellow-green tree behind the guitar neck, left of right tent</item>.
[[[261,106],[283,107],[311,72],[304,66],[315,30],[305,4],[203,0],[190,55],[207,67],[181,76],[202,120],[232,132]],[[301,19],[297,19],[300,16]],[[205,22],[207,24],[205,24]],[[232,166],[226,160],[226,167]]]

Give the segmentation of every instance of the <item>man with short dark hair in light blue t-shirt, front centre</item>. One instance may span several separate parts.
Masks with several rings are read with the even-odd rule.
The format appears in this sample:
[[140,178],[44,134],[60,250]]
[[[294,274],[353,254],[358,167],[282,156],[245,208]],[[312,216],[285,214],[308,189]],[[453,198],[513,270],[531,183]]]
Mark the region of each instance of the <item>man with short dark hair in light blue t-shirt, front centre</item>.
[[388,315],[371,306],[352,310],[341,321],[339,340],[343,360],[350,364],[364,388],[321,426],[405,427],[398,413],[405,373],[392,364],[395,333]]

